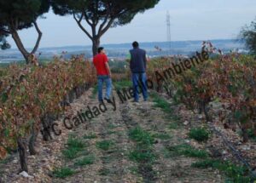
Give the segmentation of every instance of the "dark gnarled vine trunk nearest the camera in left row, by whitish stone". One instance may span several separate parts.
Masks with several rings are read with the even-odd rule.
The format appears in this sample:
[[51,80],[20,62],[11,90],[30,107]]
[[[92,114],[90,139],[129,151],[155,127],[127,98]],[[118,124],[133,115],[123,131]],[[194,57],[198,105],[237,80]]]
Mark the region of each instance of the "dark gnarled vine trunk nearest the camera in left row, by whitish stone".
[[19,152],[19,155],[20,155],[21,171],[28,172],[28,169],[27,169],[27,154],[26,154],[26,140],[19,138],[17,142],[18,142],[18,152]]

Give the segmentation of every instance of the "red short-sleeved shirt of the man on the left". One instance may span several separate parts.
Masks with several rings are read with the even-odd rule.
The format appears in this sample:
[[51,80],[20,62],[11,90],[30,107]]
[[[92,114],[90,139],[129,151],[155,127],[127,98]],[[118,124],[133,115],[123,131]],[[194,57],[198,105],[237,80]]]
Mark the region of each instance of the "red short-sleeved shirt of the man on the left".
[[108,62],[108,57],[106,54],[96,54],[93,58],[93,64],[96,67],[97,75],[108,75],[108,70],[106,67],[106,62]]

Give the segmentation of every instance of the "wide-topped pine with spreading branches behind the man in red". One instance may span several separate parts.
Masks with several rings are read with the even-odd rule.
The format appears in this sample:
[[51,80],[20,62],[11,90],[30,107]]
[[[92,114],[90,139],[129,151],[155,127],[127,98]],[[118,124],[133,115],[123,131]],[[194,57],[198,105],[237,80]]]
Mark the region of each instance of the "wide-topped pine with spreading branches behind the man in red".
[[[55,14],[72,14],[79,27],[90,38],[93,54],[100,45],[100,38],[110,27],[124,26],[138,13],[154,8],[160,0],[52,0]],[[85,20],[91,31],[83,24]]]

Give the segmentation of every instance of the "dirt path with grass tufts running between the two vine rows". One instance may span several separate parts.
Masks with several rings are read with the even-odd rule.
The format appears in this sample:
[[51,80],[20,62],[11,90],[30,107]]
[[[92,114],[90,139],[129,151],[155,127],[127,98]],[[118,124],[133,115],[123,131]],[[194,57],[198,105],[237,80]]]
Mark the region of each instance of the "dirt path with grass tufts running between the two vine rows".
[[[172,156],[168,148],[186,143],[186,132],[177,122],[166,118],[152,99],[121,104],[117,95],[114,98],[115,111],[107,104],[108,112],[93,119],[87,130],[78,128],[73,132],[87,143],[87,154],[94,155],[94,163],[75,168],[72,176],[55,178],[53,182],[223,182],[213,170],[191,168],[198,158],[178,156],[175,152]],[[88,105],[98,103],[90,100]],[[131,138],[129,134],[136,128],[141,131],[135,135],[153,137],[151,146],[144,147]],[[63,159],[62,164],[73,168],[76,159]]]

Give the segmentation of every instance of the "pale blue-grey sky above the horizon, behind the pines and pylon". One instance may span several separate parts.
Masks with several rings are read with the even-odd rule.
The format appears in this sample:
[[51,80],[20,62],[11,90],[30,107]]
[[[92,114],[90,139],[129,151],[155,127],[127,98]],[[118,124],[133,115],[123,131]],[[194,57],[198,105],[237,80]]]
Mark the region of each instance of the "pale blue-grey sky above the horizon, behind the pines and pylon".
[[[160,0],[154,9],[137,14],[131,24],[110,29],[102,43],[164,42],[166,12],[171,14],[172,41],[236,38],[241,26],[256,17],[255,0]],[[43,31],[40,47],[90,45],[90,39],[72,16],[57,16],[52,12],[38,20]],[[32,48],[37,34],[33,28],[20,31],[25,46]],[[12,48],[15,43],[9,37]]]

